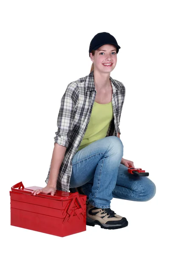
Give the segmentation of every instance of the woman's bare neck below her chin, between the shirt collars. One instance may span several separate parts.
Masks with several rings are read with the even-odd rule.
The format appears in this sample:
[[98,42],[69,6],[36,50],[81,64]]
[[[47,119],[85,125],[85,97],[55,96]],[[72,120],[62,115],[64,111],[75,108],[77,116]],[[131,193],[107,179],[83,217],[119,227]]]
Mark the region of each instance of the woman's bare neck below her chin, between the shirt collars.
[[94,70],[94,85],[98,90],[108,90],[111,87],[110,73],[100,73]]

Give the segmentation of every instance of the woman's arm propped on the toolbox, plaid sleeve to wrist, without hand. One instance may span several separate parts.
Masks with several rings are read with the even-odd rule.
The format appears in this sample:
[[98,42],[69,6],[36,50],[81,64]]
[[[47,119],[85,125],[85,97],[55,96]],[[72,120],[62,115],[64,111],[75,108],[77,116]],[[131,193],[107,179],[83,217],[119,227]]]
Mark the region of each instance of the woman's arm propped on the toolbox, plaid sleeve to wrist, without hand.
[[77,110],[78,100],[77,84],[69,84],[61,99],[61,105],[57,118],[58,131],[54,137],[54,150],[51,159],[51,167],[48,186],[56,187],[59,169],[65,156],[65,151],[70,143],[70,133],[74,125],[74,116]]

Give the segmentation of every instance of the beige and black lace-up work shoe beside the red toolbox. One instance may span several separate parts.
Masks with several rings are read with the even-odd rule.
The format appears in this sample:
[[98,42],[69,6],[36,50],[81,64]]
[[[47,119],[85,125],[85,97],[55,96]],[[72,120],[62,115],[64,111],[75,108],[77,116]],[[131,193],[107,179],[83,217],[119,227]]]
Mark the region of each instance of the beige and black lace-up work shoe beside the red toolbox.
[[86,213],[86,225],[99,225],[105,229],[118,229],[127,227],[128,221],[126,218],[117,215],[111,208],[97,208],[88,203]]

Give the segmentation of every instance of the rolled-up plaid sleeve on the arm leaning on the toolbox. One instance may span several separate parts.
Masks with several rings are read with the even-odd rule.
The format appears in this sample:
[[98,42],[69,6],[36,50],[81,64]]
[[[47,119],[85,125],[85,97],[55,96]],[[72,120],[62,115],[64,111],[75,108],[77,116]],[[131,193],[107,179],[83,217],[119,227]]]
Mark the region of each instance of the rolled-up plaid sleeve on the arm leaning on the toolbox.
[[78,87],[76,84],[68,84],[68,87],[62,96],[59,114],[57,118],[58,131],[55,132],[54,144],[57,143],[68,147],[69,134],[73,128],[74,116],[77,109]]

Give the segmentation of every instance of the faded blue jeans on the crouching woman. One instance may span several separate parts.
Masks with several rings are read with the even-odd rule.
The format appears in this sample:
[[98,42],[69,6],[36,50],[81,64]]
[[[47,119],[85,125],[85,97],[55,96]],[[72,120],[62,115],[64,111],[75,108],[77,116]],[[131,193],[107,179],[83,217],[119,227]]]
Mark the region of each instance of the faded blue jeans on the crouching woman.
[[82,186],[89,203],[98,208],[110,208],[112,198],[131,201],[153,198],[155,184],[148,177],[129,174],[128,168],[120,163],[122,157],[123,144],[116,136],[82,148],[72,159],[70,188]]

